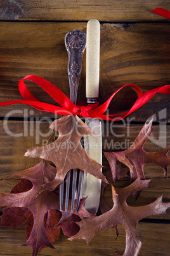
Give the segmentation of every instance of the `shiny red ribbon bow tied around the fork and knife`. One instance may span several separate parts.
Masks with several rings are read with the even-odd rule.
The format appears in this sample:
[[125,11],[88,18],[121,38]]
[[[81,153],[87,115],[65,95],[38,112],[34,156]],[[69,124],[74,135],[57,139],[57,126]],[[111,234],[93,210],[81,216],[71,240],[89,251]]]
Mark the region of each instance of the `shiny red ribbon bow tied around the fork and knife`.
[[[48,103],[42,103],[37,99],[25,86],[25,83],[23,82],[24,79],[30,80],[32,82],[37,83],[42,89],[44,89],[57,103],[60,104],[60,106],[55,106],[53,104]],[[133,87],[137,94],[138,99],[133,104],[132,108],[124,113],[121,114],[115,114],[115,115],[103,115],[105,111],[107,111],[108,106],[110,102],[112,101],[113,97],[117,92],[119,92],[124,87]],[[103,103],[101,106],[98,106],[98,103],[96,104],[89,104],[87,106],[80,106],[75,105],[70,101],[70,99],[63,94],[63,92],[58,89],[53,83],[48,82],[44,78],[41,78],[40,76],[34,76],[29,75],[25,76],[22,80],[20,80],[19,84],[19,91],[22,95],[24,100],[17,100],[17,101],[6,101],[1,102],[0,106],[6,106],[11,104],[17,104],[17,103],[23,103],[23,104],[29,104],[30,106],[36,108],[37,110],[42,111],[48,111],[51,113],[56,113],[58,115],[81,115],[82,117],[91,117],[91,118],[99,118],[103,120],[121,120],[122,118],[128,116],[130,113],[132,113],[135,110],[138,110],[143,104],[147,103],[157,92],[162,94],[170,94],[170,85],[164,85],[162,87],[158,87],[152,90],[148,90],[147,92],[142,93],[141,89],[137,85],[133,85],[132,83],[129,83],[128,85],[122,86],[120,89],[116,90],[110,98]]]

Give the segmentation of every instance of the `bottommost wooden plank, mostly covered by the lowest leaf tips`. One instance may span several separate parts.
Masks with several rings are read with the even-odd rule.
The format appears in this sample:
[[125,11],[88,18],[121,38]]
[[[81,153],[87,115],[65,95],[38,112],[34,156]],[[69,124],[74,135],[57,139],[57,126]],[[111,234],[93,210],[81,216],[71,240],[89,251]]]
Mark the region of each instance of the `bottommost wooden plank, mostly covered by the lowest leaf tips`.
[[[23,227],[8,229],[1,228],[0,248],[1,255],[26,256],[30,255],[30,246],[20,246],[25,243],[25,231]],[[170,225],[139,223],[137,234],[142,242],[139,256],[168,256],[169,255],[169,234]],[[125,248],[125,232],[119,226],[119,238],[115,240],[113,229],[102,231],[91,239],[89,245],[84,240],[69,241],[63,234],[55,242],[56,250],[44,248],[39,255],[55,256],[60,255],[115,255],[115,252],[123,253]]]

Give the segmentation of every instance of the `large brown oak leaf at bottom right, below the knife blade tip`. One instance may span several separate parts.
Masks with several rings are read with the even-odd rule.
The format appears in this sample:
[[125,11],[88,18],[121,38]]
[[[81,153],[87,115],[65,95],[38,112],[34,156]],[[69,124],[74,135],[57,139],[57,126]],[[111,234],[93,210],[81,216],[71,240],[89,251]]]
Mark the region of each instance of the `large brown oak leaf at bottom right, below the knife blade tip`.
[[142,218],[150,215],[166,213],[170,203],[163,203],[160,196],[154,203],[146,206],[133,207],[126,203],[126,199],[131,194],[148,187],[150,180],[140,180],[138,178],[131,185],[125,188],[114,188],[112,185],[112,196],[114,206],[110,211],[103,213],[93,219],[83,219],[77,222],[80,231],[69,238],[69,240],[84,239],[87,243],[99,232],[115,225],[122,225],[126,231],[126,250],[124,256],[138,255],[141,248],[141,241],[136,234],[136,225]]

